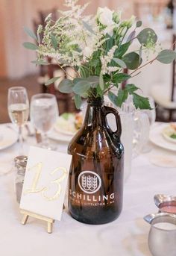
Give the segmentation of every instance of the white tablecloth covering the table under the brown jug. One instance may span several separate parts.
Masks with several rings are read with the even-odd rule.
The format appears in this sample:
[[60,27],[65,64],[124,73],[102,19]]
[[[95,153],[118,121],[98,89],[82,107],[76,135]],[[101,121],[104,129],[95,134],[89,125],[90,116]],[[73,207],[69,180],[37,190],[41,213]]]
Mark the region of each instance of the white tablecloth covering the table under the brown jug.
[[[34,144],[34,139],[27,143]],[[28,150],[28,144],[26,150]],[[66,144],[58,142],[66,152]],[[133,160],[130,178],[125,183],[121,216],[106,225],[85,225],[72,219],[66,210],[60,222],[54,223],[52,234],[45,231],[45,222],[29,219],[21,225],[22,216],[13,189],[14,172],[0,177],[0,255],[1,256],[150,256],[148,231],[142,219],[157,212],[153,198],[157,193],[176,195],[176,168],[152,165],[151,154],[169,154],[155,146],[149,154]],[[12,162],[17,145],[0,152],[0,165]]]

